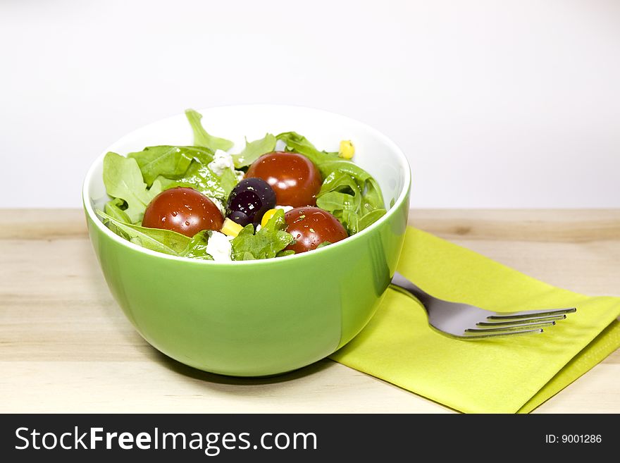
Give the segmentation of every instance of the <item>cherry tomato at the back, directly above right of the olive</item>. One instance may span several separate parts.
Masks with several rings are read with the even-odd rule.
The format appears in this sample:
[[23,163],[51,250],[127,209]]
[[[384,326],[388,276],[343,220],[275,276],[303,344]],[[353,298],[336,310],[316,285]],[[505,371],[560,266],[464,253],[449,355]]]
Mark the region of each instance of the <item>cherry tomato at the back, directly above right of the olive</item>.
[[263,154],[247,170],[246,178],[265,180],[281,206],[314,206],[321,190],[321,173],[302,154],[275,151]]

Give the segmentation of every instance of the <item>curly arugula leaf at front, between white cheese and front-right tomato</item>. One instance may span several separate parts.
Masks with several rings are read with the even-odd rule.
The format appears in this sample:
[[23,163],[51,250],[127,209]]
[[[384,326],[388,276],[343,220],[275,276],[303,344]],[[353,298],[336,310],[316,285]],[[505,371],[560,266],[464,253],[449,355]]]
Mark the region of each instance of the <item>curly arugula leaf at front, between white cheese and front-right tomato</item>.
[[285,247],[294,242],[290,233],[285,232],[284,211],[278,209],[263,228],[254,235],[254,226],[249,224],[231,241],[233,260],[270,259],[276,257]]

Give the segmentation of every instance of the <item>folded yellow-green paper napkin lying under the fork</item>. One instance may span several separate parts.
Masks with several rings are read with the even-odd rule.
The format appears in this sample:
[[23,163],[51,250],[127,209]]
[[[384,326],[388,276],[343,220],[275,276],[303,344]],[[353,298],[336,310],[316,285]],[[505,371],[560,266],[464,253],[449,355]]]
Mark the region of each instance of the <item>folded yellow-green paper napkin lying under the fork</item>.
[[429,328],[414,297],[390,289],[331,357],[461,412],[531,412],[620,347],[620,297],[554,288],[415,228],[398,271],[436,297],[483,309],[577,307],[539,335],[457,340]]

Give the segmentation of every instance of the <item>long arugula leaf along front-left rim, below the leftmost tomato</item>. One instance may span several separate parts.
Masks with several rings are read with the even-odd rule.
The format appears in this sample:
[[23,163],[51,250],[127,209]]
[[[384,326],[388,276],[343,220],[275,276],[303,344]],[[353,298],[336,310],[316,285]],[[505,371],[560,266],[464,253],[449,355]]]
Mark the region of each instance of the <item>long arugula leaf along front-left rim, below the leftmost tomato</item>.
[[113,227],[109,228],[117,233],[117,235],[120,235],[120,233],[118,233],[118,230],[120,230],[125,234],[120,236],[125,239],[129,237],[132,243],[146,247],[152,251],[159,251],[172,256],[180,256],[192,241],[190,237],[181,235],[172,230],[147,228],[133,225],[132,223],[123,223],[102,211],[97,210],[96,212],[106,225],[109,226],[110,223],[113,225]]

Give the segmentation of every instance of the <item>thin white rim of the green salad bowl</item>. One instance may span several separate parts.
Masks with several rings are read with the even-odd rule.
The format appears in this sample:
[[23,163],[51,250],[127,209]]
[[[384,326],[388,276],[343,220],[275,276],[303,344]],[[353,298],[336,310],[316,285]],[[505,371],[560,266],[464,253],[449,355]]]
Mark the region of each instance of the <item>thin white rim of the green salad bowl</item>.
[[233,104],[233,105],[223,105],[223,106],[210,106],[207,108],[198,109],[197,111],[199,113],[203,113],[206,111],[212,111],[213,109],[221,109],[221,108],[227,108],[227,109],[234,108],[234,109],[243,110],[244,108],[255,109],[255,108],[261,108],[261,107],[266,108],[266,109],[267,108],[268,109],[278,108],[278,109],[283,109],[283,110],[292,109],[294,111],[311,111],[315,113],[325,113],[325,114],[330,115],[331,117],[335,116],[336,118],[340,118],[342,120],[355,123],[356,125],[361,126],[361,128],[363,128],[364,130],[371,132],[379,140],[381,140],[387,147],[390,147],[390,149],[392,149],[392,151],[395,152],[399,160],[402,162],[403,166],[406,167],[404,168],[404,171],[405,171],[404,185],[402,187],[402,191],[400,192],[400,195],[394,202],[394,205],[391,206],[390,209],[387,210],[386,214],[383,217],[379,218],[378,221],[371,224],[371,226],[368,226],[368,228],[364,228],[364,230],[361,230],[361,232],[347,237],[345,240],[335,242],[329,246],[321,247],[320,249],[314,249],[312,252],[302,252],[300,254],[292,254],[290,256],[278,257],[277,259],[256,259],[256,260],[249,260],[249,261],[210,261],[210,260],[204,260],[204,259],[192,259],[191,257],[173,256],[171,254],[164,254],[163,252],[153,251],[151,249],[147,249],[145,247],[136,245],[135,243],[132,243],[128,240],[123,239],[123,237],[116,235],[116,233],[113,233],[112,230],[110,230],[108,227],[104,225],[104,223],[101,221],[99,216],[97,216],[94,209],[92,208],[92,203],[91,203],[91,199],[89,197],[88,192],[90,190],[91,183],[94,181],[94,171],[96,171],[97,167],[101,165],[101,163],[103,163],[104,156],[106,156],[106,154],[109,152],[110,147],[112,147],[115,144],[122,144],[125,140],[128,140],[131,137],[135,136],[135,133],[139,132],[140,130],[144,130],[145,128],[149,128],[152,125],[159,125],[161,123],[165,123],[166,121],[178,118],[180,115],[182,115],[182,113],[178,113],[173,116],[168,116],[166,118],[159,119],[159,121],[154,121],[147,125],[142,125],[142,127],[132,130],[128,134],[124,135],[123,137],[120,137],[113,144],[109,145],[109,147],[106,147],[106,149],[104,149],[103,152],[101,152],[101,154],[99,154],[99,156],[97,156],[97,158],[94,159],[94,161],[91,163],[90,167],[88,168],[88,171],[85,175],[84,183],[82,184],[82,205],[84,206],[87,216],[91,219],[91,221],[95,224],[95,226],[97,226],[97,228],[99,228],[99,230],[102,233],[104,233],[104,235],[109,236],[112,240],[120,243],[120,245],[128,247],[128,249],[132,249],[135,252],[142,252],[144,254],[148,254],[153,257],[159,257],[161,259],[169,259],[169,260],[174,260],[174,261],[182,261],[187,264],[191,263],[194,265],[211,265],[211,266],[267,265],[267,264],[273,264],[274,262],[290,261],[291,259],[307,259],[309,257],[311,258],[311,256],[318,256],[318,254],[321,254],[321,253],[331,252],[330,249],[333,249],[334,247],[340,248],[346,245],[347,242],[353,242],[353,240],[359,240],[365,235],[372,233],[373,230],[380,227],[385,221],[387,221],[391,216],[393,216],[396,213],[396,211],[400,209],[400,206],[402,206],[402,203],[405,201],[405,199],[407,199],[409,195],[409,189],[411,188],[411,167],[409,166],[409,161],[407,159],[407,156],[404,155],[404,152],[402,152],[402,149],[400,149],[400,147],[395,142],[393,142],[392,139],[390,139],[390,137],[387,137],[387,135],[383,134],[383,132],[380,132],[376,128],[371,127],[371,125],[358,121],[349,116],[344,116],[340,113],[326,111],[325,109],[312,108],[310,106],[297,106],[297,105],[291,105],[291,104]]

